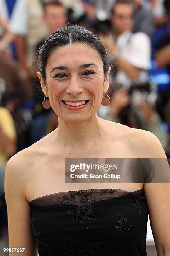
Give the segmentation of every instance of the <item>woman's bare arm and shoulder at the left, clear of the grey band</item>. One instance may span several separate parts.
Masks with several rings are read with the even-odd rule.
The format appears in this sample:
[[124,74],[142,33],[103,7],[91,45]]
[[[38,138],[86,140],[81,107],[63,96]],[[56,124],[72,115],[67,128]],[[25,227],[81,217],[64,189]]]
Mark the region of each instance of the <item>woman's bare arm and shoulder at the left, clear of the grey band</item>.
[[[37,256],[37,246],[30,224],[30,206],[25,197],[28,180],[25,164],[28,157],[24,151],[15,154],[5,169],[5,199],[7,204],[9,247],[26,248],[26,256]],[[10,253],[9,256],[13,254]],[[15,253],[20,256],[20,253]]]

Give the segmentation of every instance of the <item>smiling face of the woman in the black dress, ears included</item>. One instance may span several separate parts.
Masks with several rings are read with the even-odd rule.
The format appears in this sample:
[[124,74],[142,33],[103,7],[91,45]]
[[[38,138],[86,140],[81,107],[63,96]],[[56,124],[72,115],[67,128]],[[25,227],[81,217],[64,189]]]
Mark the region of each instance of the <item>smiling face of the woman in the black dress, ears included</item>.
[[[37,75],[58,117],[80,122],[95,115],[109,86],[109,76],[104,76],[102,59],[95,49],[80,43],[59,47],[50,54],[45,72],[46,84],[40,72]],[[86,100],[85,105],[78,103]]]

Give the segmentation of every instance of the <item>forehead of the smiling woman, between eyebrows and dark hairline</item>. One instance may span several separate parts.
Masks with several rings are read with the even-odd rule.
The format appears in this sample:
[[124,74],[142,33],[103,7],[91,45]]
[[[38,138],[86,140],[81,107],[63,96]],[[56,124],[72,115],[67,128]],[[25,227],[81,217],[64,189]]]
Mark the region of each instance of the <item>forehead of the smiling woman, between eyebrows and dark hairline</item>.
[[97,50],[87,44],[71,44],[54,49],[48,58],[46,69],[60,65],[73,68],[82,63],[95,63],[102,67],[102,59]]

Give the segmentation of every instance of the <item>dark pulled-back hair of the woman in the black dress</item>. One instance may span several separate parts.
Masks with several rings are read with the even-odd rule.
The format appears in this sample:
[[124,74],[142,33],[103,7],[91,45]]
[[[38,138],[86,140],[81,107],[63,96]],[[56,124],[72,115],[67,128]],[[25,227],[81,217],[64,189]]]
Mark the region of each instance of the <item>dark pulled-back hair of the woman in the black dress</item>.
[[[48,36],[40,50],[37,52],[37,65],[44,81],[46,79],[45,67],[52,51],[60,46],[76,43],[87,44],[97,50],[103,62],[104,74],[107,74],[109,69],[107,52],[100,41],[99,36],[81,26],[68,25],[65,28],[54,31],[52,35]],[[37,76],[35,77],[34,85],[36,87],[38,86]],[[35,90],[36,89],[37,88],[35,88]]]

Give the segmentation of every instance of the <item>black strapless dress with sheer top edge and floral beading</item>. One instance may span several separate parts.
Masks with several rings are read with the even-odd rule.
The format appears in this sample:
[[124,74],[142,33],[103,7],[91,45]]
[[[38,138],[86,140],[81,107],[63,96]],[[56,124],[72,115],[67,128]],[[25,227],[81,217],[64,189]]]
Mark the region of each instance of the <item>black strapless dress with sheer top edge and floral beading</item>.
[[87,189],[32,200],[40,256],[147,256],[143,189]]

